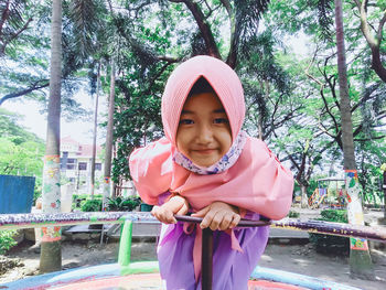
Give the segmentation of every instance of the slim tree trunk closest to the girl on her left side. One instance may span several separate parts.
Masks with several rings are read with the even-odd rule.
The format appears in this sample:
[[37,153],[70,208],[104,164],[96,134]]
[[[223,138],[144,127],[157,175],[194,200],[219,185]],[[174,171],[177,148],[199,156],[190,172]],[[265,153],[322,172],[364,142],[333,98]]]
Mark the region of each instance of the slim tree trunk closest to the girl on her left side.
[[110,176],[111,176],[111,155],[112,155],[112,122],[114,122],[114,98],[115,98],[115,64],[111,61],[111,75],[110,75],[110,95],[108,104],[108,121],[106,133],[106,153],[105,153],[105,183],[104,183],[104,198],[103,210],[106,208],[107,197],[110,196]]

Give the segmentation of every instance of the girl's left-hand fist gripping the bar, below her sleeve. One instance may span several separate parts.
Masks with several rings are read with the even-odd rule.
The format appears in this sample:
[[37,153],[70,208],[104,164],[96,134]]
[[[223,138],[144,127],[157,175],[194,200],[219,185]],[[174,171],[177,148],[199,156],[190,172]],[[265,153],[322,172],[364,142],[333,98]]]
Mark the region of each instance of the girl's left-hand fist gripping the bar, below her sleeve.
[[161,206],[154,205],[151,214],[161,223],[175,224],[174,215],[184,215],[187,213],[187,201],[181,195],[174,195]]

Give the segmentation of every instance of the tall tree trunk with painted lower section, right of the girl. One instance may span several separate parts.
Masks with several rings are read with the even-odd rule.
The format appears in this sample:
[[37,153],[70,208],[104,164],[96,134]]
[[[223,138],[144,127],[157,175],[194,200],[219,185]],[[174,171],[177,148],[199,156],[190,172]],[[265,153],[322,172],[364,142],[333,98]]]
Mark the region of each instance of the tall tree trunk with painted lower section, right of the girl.
[[[345,60],[342,0],[335,0],[337,71],[341,98],[343,161],[345,169],[345,184],[349,195],[347,214],[350,224],[364,224],[362,202],[360,200],[360,184],[356,172],[353,123],[349,96],[347,68]],[[374,279],[372,259],[367,240],[351,238],[350,272],[355,278]]]

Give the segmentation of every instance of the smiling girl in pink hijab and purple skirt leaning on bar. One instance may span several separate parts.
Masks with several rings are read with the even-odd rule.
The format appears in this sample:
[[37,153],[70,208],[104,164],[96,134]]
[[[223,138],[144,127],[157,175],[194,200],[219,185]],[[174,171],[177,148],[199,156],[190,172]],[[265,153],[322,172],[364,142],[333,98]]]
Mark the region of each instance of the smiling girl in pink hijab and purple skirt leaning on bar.
[[[285,217],[291,173],[267,146],[242,131],[243,87],[222,61],[195,56],[168,79],[162,96],[165,137],[130,155],[141,198],[162,222],[158,258],[167,289],[201,289],[201,235],[211,227],[213,289],[247,289],[268,227],[235,228],[240,217]],[[200,226],[175,214],[203,217]]]

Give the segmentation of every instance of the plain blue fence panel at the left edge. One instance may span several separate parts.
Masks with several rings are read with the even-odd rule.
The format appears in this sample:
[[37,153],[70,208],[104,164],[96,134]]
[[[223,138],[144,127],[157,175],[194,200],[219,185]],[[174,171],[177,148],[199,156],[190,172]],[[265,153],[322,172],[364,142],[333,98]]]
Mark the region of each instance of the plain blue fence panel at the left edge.
[[35,178],[0,175],[0,214],[31,213]]

